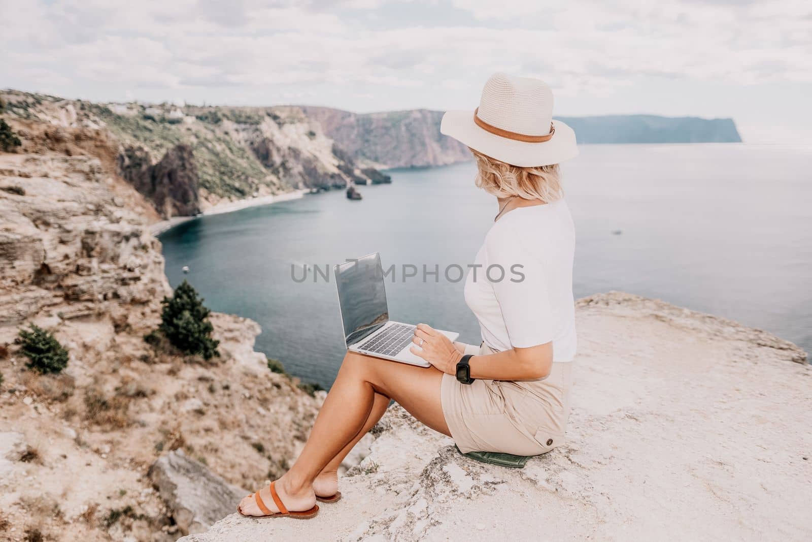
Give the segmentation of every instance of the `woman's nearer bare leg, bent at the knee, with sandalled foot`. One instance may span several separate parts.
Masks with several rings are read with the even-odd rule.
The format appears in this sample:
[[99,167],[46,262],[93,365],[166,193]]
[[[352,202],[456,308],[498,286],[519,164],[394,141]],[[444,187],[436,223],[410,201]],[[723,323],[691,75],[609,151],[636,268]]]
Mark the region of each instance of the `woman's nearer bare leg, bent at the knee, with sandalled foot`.
[[[316,501],[313,480],[365,427],[373,414],[376,393],[391,397],[428,427],[449,435],[440,401],[442,378],[443,373],[434,367],[382,362],[347,353],[307,444],[291,470],[277,480],[277,492],[287,509],[306,510],[313,506]],[[260,496],[275,512],[268,488],[263,488]],[[240,501],[240,509],[244,514],[262,514],[253,498]]]

